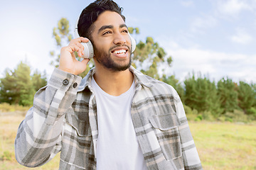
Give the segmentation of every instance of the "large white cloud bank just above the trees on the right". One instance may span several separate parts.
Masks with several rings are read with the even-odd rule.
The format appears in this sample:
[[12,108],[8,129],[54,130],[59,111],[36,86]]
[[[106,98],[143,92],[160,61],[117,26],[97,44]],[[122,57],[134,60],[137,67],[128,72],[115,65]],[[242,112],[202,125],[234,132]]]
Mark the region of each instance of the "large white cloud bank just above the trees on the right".
[[209,75],[215,81],[223,77],[236,82],[255,82],[256,79],[256,56],[184,48],[170,48],[167,52],[174,62],[165,74],[175,74],[180,81],[184,81],[192,72]]

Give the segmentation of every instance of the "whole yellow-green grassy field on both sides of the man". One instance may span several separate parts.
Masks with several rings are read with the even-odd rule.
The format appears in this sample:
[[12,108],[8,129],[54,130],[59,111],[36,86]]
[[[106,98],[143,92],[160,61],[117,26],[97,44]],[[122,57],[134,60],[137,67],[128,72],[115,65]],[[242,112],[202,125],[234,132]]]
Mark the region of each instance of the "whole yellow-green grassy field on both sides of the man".
[[[14,139],[24,115],[0,115],[0,170],[28,169],[14,155]],[[189,123],[203,169],[256,169],[256,125]],[[58,169],[59,154],[35,169]]]

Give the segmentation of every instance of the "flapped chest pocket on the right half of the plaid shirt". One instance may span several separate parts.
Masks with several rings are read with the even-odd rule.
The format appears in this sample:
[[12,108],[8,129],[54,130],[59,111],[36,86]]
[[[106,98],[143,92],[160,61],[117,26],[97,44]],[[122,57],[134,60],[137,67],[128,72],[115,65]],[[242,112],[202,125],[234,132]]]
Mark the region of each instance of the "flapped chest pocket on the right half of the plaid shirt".
[[166,160],[181,157],[181,138],[178,132],[180,125],[176,114],[153,115],[149,122],[154,127],[157,140]]

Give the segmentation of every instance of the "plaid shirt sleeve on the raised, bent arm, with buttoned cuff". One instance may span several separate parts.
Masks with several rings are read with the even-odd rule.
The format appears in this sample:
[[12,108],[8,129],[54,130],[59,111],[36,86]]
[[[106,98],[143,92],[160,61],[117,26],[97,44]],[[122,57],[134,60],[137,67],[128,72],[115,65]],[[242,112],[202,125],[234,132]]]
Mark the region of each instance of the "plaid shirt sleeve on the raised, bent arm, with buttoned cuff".
[[54,69],[47,86],[36,93],[33,107],[18,127],[14,144],[18,163],[41,166],[60,152],[65,111],[75,100],[81,79]]

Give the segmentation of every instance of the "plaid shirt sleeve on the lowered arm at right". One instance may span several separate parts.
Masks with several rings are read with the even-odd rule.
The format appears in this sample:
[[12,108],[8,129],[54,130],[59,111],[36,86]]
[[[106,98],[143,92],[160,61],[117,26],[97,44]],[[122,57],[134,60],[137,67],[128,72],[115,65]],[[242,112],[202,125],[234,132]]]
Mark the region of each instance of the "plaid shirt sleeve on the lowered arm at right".
[[179,98],[177,93],[176,96],[176,113],[178,115],[178,120],[181,123],[181,125],[178,126],[178,130],[181,137],[181,149],[184,168],[186,170],[203,169],[198,156],[198,152],[196,150],[195,142],[193,141],[191,131],[188,127],[188,120],[186,118],[181,98]]

